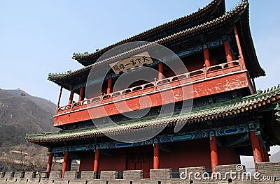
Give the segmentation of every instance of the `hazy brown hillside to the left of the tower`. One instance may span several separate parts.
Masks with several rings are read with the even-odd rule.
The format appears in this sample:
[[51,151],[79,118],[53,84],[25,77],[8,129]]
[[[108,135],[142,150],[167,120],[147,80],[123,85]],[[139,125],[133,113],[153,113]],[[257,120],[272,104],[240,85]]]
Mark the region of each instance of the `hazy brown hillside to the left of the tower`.
[[0,147],[26,144],[25,135],[56,131],[55,104],[20,89],[0,89]]

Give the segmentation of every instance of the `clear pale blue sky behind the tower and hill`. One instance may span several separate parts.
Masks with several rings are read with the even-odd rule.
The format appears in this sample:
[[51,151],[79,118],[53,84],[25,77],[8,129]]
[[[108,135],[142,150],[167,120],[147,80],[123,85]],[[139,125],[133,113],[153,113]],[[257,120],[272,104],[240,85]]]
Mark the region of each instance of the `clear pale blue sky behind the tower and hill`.
[[[57,102],[49,72],[80,68],[73,52],[93,52],[183,15],[211,0],[3,1],[0,0],[1,89],[20,88]],[[141,2],[141,3],[140,3]],[[227,10],[239,1],[226,1]],[[279,84],[280,1],[249,1],[251,33],[266,77],[258,89]],[[64,91],[62,104],[68,93]]]

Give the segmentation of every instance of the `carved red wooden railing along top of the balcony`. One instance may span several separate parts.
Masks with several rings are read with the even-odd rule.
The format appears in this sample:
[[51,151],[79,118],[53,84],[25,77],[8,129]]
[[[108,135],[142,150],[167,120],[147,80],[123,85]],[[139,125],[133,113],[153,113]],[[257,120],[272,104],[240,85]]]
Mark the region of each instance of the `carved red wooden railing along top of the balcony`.
[[201,79],[226,75],[230,72],[236,72],[239,70],[242,70],[239,60],[221,63],[216,66],[204,66],[204,68],[192,72],[186,72],[181,75],[176,75],[161,80],[155,79],[154,82],[148,82],[146,84],[134,86],[129,89],[103,94],[80,102],[73,102],[71,105],[64,105],[57,108],[56,114],[59,115],[65,112],[71,112],[76,109],[94,107],[95,105],[103,105],[107,102],[114,102],[114,100],[123,100],[126,98],[137,97],[139,95],[146,95],[146,93],[158,93],[158,91],[161,89],[165,89],[167,84],[169,84],[169,88],[175,88],[191,82],[199,81]]

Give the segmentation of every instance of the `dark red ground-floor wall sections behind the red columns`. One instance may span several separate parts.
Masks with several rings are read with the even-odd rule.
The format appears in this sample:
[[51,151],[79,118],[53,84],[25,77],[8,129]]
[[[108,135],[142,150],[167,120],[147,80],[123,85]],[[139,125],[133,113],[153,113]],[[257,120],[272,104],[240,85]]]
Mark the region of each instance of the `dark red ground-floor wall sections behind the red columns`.
[[[208,139],[181,141],[165,144],[171,152],[160,150],[160,168],[201,167],[211,168],[210,148]],[[118,148],[108,150],[112,155],[100,155],[99,171],[124,171],[127,165],[127,155],[133,153],[153,153],[153,146],[139,146],[137,148]],[[80,159],[80,171],[93,171],[94,153],[86,151]],[[218,148],[219,164],[238,164],[239,155],[235,148]],[[150,168],[152,169],[151,163]]]

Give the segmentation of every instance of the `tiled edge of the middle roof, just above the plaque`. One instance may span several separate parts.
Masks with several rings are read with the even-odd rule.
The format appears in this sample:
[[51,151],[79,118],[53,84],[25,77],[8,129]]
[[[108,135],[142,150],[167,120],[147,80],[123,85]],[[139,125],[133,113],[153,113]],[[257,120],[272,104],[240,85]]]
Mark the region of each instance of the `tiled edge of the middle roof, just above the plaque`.
[[[178,39],[180,37],[183,37],[183,36],[189,37],[189,36],[193,36],[196,33],[201,33],[203,31],[207,31],[209,29],[216,29],[219,26],[223,26],[223,24],[225,24],[226,22],[230,22],[231,20],[234,20],[235,17],[238,16],[240,13],[243,13],[243,11],[246,10],[246,8],[248,8],[248,0],[241,1],[241,3],[239,3],[239,5],[237,5],[235,8],[233,8],[229,12],[226,12],[223,16],[216,18],[215,20],[211,20],[211,21],[206,22],[204,24],[200,24],[200,25],[191,27],[191,28],[186,29],[184,31],[179,31],[178,33],[174,33],[174,34],[172,34],[170,36],[167,36],[165,38],[161,38],[160,40],[156,40],[153,43],[163,45],[164,43],[167,43],[167,42],[172,41],[172,40],[176,40],[176,39]],[[65,72],[65,73],[59,73],[59,74],[53,74],[53,73],[49,74],[48,79],[50,81],[55,82],[55,81],[59,81],[59,80],[62,80],[62,79],[70,79],[71,77],[79,76],[83,72],[90,72],[92,67],[102,66],[106,63],[112,63],[113,61],[118,61],[118,59],[122,58],[123,56],[126,56],[127,54],[137,52],[138,50],[141,50],[144,47],[150,47],[151,45],[153,45],[153,43],[149,43],[147,45],[131,49],[127,52],[123,52],[123,53],[118,54],[116,56],[112,56],[108,59],[104,59],[102,61],[99,61],[98,63],[93,63],[90,66],[80,68],[80,69],[75,70],[73,72]]]

